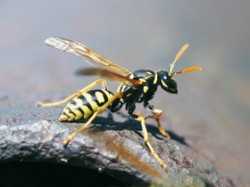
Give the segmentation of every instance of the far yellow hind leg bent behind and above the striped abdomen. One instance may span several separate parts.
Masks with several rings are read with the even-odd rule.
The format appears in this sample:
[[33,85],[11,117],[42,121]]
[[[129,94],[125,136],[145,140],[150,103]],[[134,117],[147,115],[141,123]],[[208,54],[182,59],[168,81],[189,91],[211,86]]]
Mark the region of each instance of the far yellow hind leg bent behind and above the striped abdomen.
[[103,79],[99,79],[94,81],[93,83],[91,83],[90,85],[86,86],[85,88],[73,93],[72,95],[66,97],[65,99],[61,100],[61,101],[57,101],[57,102],[52,102],[52,103],[43,103],[43,102],[37,102],[37,106],[40,107],[53,107],[53,106],[59,106],[59,105],[63,105],[64,103],[70,101],[71,99],[73,99],[74,97],[77,97],[79,95],[82,95],[83,93],[91,90],[93,87],[95,87],[97,84],[102,83],[102,86],[104,89],[107,89],[107,83],[105,80]]

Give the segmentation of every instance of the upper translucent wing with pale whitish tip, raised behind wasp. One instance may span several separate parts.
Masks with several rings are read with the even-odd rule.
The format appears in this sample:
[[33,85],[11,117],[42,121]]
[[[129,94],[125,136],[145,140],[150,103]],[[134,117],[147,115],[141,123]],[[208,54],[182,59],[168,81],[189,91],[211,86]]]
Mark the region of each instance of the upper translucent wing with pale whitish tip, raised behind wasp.
[[68,52],[76,56],[81,56],[91,65],[97,65],[102,68],[111,69],[112,71],[115,71],[115,72],[118,71],[124,75],[130,73],[130,71],[128,71],[127,69],[121,66],[118,66],[117,64],[112,63],[110,60],[95,53],[94,51],[89,49],[86,45],[81,44],[79,42],[72,41],[72,40],[65,39],[65,38],[51,37],[51,38],[46,39],[45,43],[61,51]]

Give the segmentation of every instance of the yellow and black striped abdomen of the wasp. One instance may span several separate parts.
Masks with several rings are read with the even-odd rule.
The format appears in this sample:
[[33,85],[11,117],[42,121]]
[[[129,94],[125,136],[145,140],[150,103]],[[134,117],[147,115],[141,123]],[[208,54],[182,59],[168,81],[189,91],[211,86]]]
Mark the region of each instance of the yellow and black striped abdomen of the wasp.
[[77,121],[93,115],[97,109],[113,98],[113,94],[107,90],[90,90],[75,97],[63,109],[59,121]]

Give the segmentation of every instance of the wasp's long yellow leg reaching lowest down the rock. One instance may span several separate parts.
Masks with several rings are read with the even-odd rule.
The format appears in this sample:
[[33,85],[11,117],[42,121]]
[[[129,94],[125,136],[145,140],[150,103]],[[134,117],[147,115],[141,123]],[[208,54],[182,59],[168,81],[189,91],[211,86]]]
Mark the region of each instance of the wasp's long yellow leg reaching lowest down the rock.
[[149,140],[149,137],[148,137],[148,131],[147,131],[147,128],[146,128],[146,125],[145,125],[145,118],[143,116],[136,115],[136,114],[132,114],[132,117],[134,117],[136,120],[138,120],[138,121],[141,122],[141,126],[142,126],[142,131],[143,131],[143,136],[144,136],[145,143],[147,144],[150,152],[155,157],[155,159],[160,164],[160,166],[164,170],[167,170],[167,168],[168,168],[167,164],[160,158],[160,156],[156,153],[156,151],[154,150],[154,148],[150,144],[150,140]]

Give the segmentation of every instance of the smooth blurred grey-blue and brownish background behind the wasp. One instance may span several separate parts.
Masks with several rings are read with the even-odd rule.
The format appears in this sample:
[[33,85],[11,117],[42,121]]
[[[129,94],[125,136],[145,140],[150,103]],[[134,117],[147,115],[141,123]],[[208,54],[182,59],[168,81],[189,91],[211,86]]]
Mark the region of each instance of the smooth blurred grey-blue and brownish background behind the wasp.
[[[80,41],[133,71],[168,69],[184,43],[190,49],[175,70],[177,96],[159,91],[165,128],[213,160],[218,171],[250,183],[250,1],[0,1],[0,99],[31,107],[60,99],[94,77],[79,57],[44,45],[51,36]],[[116,83],[111,83],[115,90]],[[160,90],[160,89],[159,89]]]

